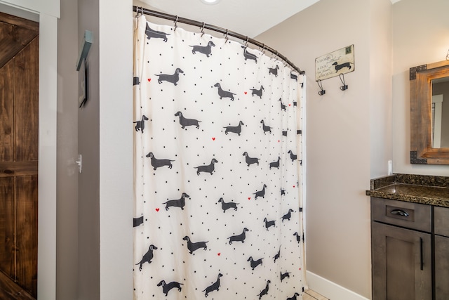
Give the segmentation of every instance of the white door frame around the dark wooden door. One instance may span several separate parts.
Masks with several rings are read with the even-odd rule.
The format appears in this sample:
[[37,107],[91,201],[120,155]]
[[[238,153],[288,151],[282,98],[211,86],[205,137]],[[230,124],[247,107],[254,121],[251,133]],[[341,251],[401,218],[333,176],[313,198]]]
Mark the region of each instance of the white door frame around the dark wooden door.
[[[39,18],[38,299],[56,299],[56,126],[60,0],[0,0],[0,11]],[[51,9],[50,9],[51,8]]]

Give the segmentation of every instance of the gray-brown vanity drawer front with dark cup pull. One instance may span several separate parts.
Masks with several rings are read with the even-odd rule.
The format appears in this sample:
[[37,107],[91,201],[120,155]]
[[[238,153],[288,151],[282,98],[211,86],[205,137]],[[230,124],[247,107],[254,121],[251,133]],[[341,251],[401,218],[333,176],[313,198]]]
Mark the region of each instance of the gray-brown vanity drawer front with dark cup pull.
[[373,197],[371,217],[373,221],[431,232],[430,205]]

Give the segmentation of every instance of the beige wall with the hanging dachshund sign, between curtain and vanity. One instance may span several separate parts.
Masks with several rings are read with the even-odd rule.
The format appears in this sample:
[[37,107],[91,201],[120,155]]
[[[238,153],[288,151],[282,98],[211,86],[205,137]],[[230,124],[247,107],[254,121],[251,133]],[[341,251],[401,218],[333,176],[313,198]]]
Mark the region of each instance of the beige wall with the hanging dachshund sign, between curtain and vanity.
[[[387,174],[392,157],[390,11],[389,0],[321,0],[256,37],[307,75],[307,270],[358,299],[371,296],[365,190],[370,178]],[[340,91],[334,77],[319,96],[315,58],[351,44],[349,89]],[[341,299],[324,284],[310,287]]]

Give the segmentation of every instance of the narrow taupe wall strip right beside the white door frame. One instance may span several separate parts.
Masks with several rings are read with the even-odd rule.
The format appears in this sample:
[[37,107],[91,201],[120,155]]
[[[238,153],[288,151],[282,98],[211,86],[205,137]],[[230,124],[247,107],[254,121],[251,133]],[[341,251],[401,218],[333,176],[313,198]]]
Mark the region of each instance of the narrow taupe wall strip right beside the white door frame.
[[58,20],[56,299],[78,299],[78,1],[61,1]]

